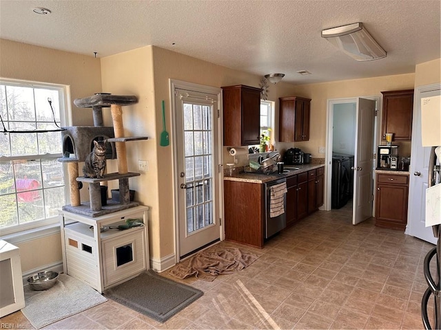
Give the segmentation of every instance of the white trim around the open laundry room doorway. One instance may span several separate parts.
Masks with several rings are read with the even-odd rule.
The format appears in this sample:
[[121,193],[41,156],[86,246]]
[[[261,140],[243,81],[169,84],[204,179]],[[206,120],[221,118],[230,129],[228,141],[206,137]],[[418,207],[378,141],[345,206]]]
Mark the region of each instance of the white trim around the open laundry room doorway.
[[[380,115],[382,108],[382,97],[378,95],[373,96],[356,96],[353,98],[328,98],[327,100],[327,116],[326,116],[326,153],[325,153],[325,165],[326,165],[326,188],[325,188],[325,203],[323,204],[323,210],[331,210],[331,179],[332,179],[332,131],[333,131],[333,121],[334,121],[334,104],[342,103],[356,103],[358,98],[366,98],[368,100],[375,100],[377,107],[377,121],[376,121],[376,136],[380,134]],[[374,141],[374,144],[376,142]],[[355,155],[354,155],[355,156]],[[375,199],[374,199],[375,201]],[[375,210],[375,207],[373,207]]]

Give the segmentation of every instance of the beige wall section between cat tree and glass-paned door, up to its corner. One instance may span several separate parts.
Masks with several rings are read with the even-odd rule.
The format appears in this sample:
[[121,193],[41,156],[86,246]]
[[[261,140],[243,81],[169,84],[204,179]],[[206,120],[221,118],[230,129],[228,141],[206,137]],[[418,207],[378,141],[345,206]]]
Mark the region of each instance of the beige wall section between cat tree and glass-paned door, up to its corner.
[[[130,189],[135,190],[135,200],[149,206],[150,255],[159,256],[160,228],[158,223],[158,160],[156,139],[156,108],[153,83],[152,47],[142,47],[129,52],[101,58],[103,90],[116,95],[134,95],[138,103],[123,107],[125,136],[147,136],[149,140],[127,142],[127,167],[139,172],[138,160],[147,160],[149,170],[130,179]],[[105,124],[112,126],[110,109],[103,111]],[[117,172],[116,162],[108,162],[107,170]],[[118,181],[109,182],[110,189]]]

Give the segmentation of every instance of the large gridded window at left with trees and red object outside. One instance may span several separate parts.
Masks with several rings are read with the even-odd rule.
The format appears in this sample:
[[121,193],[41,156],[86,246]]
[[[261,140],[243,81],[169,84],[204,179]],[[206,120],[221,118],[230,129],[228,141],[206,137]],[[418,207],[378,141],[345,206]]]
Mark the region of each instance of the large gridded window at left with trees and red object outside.
[[61,127],[65,87],[0,80],[0,230],[57,221],[66,204]]

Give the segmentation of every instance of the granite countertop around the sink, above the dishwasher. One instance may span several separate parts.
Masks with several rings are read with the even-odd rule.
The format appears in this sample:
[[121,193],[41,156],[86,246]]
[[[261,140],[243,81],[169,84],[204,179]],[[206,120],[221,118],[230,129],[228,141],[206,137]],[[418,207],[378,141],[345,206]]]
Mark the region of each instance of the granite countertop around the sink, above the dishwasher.
[[[289,165],[289,166],[298,167],[299,169],[289,170],[288,173],[283,173],[283,174],[233,173],[231,177],[225,175],[223,179],[225,181],[242,181],[242,182],[250,182],[253,184],[265,184],[269,181],[282,179],[283,177],[291,177],[293,175],[305,173],[308,170],[314,170],[315,168],[324,167],[325,164],[303,164],[303,165]],[[285,169],[287,169],[287,165],[285,165]]]

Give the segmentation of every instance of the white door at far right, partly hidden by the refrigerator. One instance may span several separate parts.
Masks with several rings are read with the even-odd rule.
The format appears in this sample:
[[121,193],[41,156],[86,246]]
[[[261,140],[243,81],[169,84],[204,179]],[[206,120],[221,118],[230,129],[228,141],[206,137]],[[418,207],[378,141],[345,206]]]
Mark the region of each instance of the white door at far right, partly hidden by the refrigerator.
[[435,244],[431,227],[426,227],[426,189],[429,184],[429,155],[431,147],[421,143],[421,98],[440,95],[440,85],[420,87],[414,98],[411,147],[411,173],[409,177],[409,207],[406,233]]

